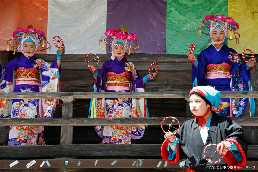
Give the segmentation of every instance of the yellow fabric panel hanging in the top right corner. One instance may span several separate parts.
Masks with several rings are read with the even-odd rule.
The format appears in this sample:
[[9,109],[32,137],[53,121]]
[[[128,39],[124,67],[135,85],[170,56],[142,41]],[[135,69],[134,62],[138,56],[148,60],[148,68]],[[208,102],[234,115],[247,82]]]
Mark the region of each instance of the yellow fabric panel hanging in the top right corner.
[[242,53],[249,48],[258,54],[258,6],[257,0],[228,0],[228,17],[239,24],[239,44],[236,40],[228,40],[228,47]]

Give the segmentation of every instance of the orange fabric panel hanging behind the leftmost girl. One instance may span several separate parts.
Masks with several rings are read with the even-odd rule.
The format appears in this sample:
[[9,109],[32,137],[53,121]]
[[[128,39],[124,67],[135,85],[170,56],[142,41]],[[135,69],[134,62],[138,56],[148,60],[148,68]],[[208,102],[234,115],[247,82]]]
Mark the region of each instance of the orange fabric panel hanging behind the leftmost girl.
[[[1,0],[0,2],[0,51],[7,50],[7,40],[16,28],[26,29],[30,24],[47,36],[48,0]],[[13,48],[10,47],[10,50]],[[46,54],[46,50],[36,52]]]

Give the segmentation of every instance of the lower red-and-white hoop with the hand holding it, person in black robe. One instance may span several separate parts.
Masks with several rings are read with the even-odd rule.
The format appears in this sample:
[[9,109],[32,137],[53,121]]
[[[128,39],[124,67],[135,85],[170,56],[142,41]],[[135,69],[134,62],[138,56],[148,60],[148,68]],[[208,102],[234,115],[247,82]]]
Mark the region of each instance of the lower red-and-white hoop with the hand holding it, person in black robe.
[[[226,148],[230,151],[230,148],[225,146],[222,141],[222,147]],[[220,155],[219,151],[217,151],[217,144],[208,144],[203,151],[204,158],[210,163],[218,163],[223,158],[223,153]]]

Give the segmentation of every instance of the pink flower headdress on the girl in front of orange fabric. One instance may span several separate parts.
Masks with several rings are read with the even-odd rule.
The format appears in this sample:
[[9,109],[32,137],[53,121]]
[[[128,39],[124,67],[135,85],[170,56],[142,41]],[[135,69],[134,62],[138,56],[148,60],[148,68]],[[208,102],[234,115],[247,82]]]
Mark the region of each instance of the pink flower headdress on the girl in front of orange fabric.
[[[28,39],[31,39],[34,42],[36,51],[46,50],[51,47],[51,44],[46,40],[45,33],[42,30],[34,29],[33,26],[30,25],[26,30],[24,28],[17,28],[13,32],[12,37],[7,40],[7,51],[9,51],[11,46],[14,48],[13,54],[15,54],[17,43],[17,49],[22,51],[22,45]],[[47,45],[49,46],[47,47]],[[41,49],[38,49],[40,46]]]

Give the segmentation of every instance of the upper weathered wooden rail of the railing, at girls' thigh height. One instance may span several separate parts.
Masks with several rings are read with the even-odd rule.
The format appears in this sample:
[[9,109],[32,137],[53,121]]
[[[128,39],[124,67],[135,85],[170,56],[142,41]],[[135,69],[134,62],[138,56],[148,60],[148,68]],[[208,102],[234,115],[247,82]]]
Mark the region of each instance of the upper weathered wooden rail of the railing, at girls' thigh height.
[[[0,93],[1,99],[60,99],[61,96],[73,96],[75,99],[90,98],[184,98],[186,91],[157,91],[157,92],[74,92],[74,93]],[[258,98],[258,91],[221,91],[221,97]]]

